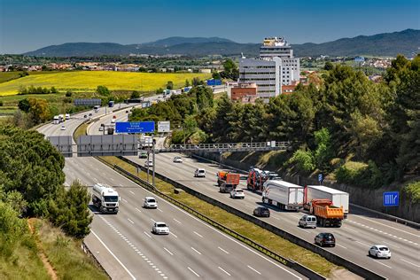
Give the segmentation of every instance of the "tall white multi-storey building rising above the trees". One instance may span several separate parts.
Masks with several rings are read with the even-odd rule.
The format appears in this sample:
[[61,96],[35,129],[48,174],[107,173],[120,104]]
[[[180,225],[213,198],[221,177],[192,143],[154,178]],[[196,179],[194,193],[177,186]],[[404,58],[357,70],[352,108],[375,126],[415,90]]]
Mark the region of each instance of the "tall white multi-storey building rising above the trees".
[[284,38],[265,38],[260,58],[239,59],[239,82],[255,82],[259,97],[276,97],[282,85],[299,82],[299,58],[294,58],[291,46]]

